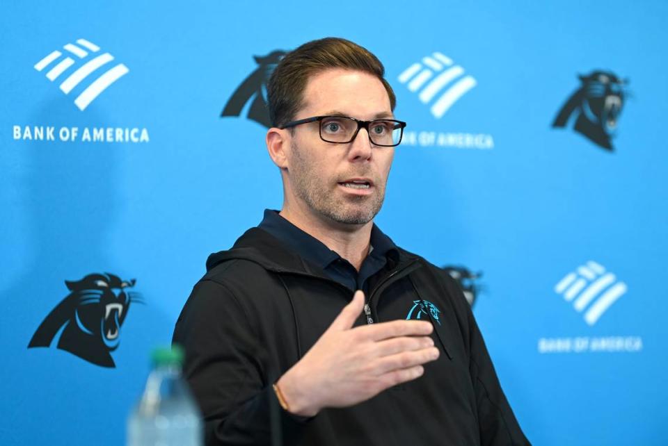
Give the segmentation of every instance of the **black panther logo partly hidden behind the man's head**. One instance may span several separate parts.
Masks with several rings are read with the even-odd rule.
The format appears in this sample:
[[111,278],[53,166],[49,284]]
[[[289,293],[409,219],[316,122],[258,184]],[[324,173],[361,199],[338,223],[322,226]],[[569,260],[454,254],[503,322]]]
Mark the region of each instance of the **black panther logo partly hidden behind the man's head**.
[[269,110],[267,110],[267,83],[269,83],[273,69],[283,56],[285,56],[285,51],[279,50],[272,51],[267,56],[253,56],[257,65],[260,66],[234,91],[228,104],[225,104],[221,116],[239,116],[248,101],[252,101],[248,108],[248,119],[253,119],[269,129],[271,123],[269,122]]

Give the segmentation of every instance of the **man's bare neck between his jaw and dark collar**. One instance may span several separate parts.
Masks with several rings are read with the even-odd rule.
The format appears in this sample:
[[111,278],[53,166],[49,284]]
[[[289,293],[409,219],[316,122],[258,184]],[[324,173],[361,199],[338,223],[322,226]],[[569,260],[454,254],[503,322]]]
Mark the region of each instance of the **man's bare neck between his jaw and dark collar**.
[[373,221],[367,224],[328,222],[310,213],[292,212],[287,206],[283,206],[279,215],[309,236],[317,238],[358,271],[369,254]]

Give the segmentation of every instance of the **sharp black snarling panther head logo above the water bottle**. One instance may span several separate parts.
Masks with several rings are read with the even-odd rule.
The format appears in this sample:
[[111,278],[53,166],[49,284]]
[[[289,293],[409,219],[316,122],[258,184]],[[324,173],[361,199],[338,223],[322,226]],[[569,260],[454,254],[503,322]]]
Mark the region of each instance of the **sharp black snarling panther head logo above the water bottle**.
[[141,303],[141,295],[129,290],[134,283],[109,273],[65,281],[70,294],[47,315],[28,348],[49,347],[60,333],[59,349],[102,367],[116,367],[110,352],[118,347],[130,304]]

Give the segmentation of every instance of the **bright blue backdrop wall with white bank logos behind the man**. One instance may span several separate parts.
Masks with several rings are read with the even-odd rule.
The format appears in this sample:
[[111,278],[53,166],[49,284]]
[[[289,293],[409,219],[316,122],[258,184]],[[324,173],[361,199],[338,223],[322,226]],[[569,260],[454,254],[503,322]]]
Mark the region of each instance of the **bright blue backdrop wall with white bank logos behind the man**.
[[[484,273],[474,312],[527,437],[666,444],[667,19],[662,1],[4,4],[0,443],[125,441],[207,255],[280,208],[262,86],[223,108],[265,56],[336,35],[379,56],[408,122],[376,222]],[[56,348],[63,331],[28,348],[65,281],[97,273],[144,301],[107,309],[113,367]]]

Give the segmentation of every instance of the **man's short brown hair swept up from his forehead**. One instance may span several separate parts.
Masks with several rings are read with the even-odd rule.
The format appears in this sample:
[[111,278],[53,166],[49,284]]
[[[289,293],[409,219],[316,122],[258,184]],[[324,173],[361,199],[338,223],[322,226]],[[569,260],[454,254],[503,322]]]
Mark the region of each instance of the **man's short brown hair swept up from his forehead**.
[[385,67],[369,50],[342,38],[312,40],[290,51],[280,60],[267,85],[269,119],[280,127],[292,121],[303,104],[303,93],[311,76],[328,68],[354,69],[378,77],[395,109],[397,98],[388,81]]

